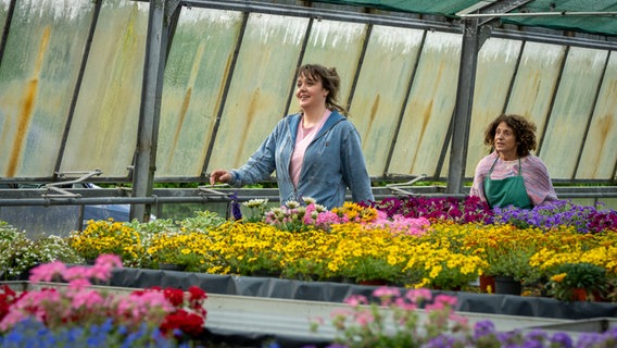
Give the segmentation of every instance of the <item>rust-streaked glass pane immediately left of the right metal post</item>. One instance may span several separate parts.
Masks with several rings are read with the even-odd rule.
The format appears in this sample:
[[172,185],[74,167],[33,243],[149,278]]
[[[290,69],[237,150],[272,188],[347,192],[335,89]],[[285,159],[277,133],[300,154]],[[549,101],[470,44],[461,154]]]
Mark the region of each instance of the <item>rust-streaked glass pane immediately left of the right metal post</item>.
[[428,33],[389,172],[433,175],[456,100],[461,36]]

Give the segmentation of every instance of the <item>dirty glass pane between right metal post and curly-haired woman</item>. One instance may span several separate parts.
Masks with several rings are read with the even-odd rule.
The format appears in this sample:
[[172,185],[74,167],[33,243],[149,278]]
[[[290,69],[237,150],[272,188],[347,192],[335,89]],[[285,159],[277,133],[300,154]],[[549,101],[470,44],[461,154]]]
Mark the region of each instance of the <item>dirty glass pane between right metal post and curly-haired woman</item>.
[[474,107],[469,127],[469,145],[465,176],[473,177],[476,165],[489,153],[484,129],[502,113],[520,53],[520,41],[491,38],[478,53]]

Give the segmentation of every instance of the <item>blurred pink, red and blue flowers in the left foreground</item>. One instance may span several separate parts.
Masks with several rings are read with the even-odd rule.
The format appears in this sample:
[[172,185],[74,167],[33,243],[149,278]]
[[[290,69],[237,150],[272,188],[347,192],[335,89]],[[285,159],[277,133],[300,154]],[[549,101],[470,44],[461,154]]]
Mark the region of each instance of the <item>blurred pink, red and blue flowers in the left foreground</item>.
[[17,294],[8,285],[0,291],[0,346],[29,347],[50,343],[62,347],[167,347],[199,338],[205,325],[205,293],[150,288],[114,295],[92,288],[108,281],[119,257],[100,256],[92,266],[62,262],[38,265],[30,284],[67,282],[65,287],[41,286]]

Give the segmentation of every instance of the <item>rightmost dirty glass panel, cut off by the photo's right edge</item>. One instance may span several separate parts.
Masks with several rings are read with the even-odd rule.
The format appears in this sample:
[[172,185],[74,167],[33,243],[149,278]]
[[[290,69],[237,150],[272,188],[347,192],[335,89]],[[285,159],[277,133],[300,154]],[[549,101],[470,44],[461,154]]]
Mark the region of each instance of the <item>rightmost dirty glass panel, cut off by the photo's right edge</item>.
[[615,179],[617,165],[617,54],[613,52],[591,120],[577,179]]

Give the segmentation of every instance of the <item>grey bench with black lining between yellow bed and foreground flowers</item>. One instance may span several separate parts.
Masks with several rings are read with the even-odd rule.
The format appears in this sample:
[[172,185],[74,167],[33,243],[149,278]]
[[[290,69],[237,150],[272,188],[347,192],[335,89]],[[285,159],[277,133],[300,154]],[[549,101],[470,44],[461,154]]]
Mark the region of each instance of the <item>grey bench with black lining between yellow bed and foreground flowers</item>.
[[[65,286],[62,283],[2,283],[9,284],[15,290]],[[131,286],[118,285],[127,283]],[[272,339],[281,347],[323,345],[332,341],[336,331],[331,325],[330,313],[349,308],[341,299],[351,294],[370,296],[376,288],[337,283],[138,269],[115,270],[109,283],[96,287],[114,294],[128,294],[136,288],[151,286],[188,288],[192,285],[207,293],[204,307],[207,310],[206,328],[211,337],[235,344],[235,347],[259,347]],[[552,299],[511,295],[446,291],[441,294],[456,296],[457,313],[466,316],[470,323],[489,320],[500,332],[542,328],[547,332],[565,332],[576,337],[581,332],[604,332],[616,325],[616,320],[610,319],[616,316],[615,303],[563,303]],[[529,312],[531,308],[537,313],[553,313],[553,315],[520,314]],[[564,315],[556,318],[556,313],[566,313],[571,318]],[[421,310],[418,311],[418,315],[420,321],[426,318]],[[312,332],[311,323],[317,320],[322,321],[322,324],[316,332]]]

